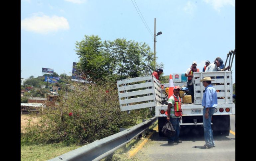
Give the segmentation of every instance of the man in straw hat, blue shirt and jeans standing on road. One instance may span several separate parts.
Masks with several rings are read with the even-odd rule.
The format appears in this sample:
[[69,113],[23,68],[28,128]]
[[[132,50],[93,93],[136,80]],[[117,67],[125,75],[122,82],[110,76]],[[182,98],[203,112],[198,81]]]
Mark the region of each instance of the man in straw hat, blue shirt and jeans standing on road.
[[205,92],[203,93],[202,106],[203,106],[203,129],[204,129],[204,148],[215,147],[213,140],[213,134],[211,129],[211,117],[214,114],[214,108],[217,107],[217,92],[215,88],[211,85],[210,77],[203,77],[200,82],[203,83],[205,87]]

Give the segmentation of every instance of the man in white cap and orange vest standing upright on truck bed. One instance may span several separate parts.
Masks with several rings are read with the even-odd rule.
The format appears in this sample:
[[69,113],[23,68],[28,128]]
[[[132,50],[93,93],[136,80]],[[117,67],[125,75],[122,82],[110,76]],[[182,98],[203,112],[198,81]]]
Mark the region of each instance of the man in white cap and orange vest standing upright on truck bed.
[[189,89],[188,95],[192,97],[192,103],[194,103],[194,84],[193,84],[193,73],[199,72],[196,68],[197,64],[195,61],[192,62],[192,66],[186,71],[185,76],[188,77],[187,88]]

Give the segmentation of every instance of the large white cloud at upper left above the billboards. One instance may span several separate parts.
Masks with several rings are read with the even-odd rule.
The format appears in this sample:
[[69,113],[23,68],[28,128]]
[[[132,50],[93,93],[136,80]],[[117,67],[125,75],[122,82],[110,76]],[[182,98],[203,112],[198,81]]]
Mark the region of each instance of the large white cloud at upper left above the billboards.
[[[39,13],[42,14],[42,13]],[[34,14],[30,18],[21,20],[21,29],[40,34],[47,34],[49,32],[56,32],[59,30],[68,30],[69,24],[66,18],[58,16],[39,16]]]

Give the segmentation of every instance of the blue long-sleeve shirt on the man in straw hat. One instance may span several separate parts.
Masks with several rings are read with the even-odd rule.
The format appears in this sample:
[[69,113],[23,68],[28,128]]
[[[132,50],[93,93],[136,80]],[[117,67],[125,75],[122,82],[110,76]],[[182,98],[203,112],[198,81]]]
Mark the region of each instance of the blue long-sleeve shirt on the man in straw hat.
[[215,88],[212,87],[212,85],[208,85],[205,87],[205,92],[203,93],[203,99],[202,99],[202,106],[205,108],[209,107],[217,107],[218,105],[218,98],[217,98],[217,92]]

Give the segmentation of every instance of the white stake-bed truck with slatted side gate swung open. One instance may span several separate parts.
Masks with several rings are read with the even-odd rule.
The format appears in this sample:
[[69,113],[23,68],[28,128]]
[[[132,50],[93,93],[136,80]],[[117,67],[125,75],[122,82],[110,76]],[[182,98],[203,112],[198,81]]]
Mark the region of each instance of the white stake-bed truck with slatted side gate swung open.
[[[181,132],[183,129],[191,129],[203,126],[203,107],[201,105],[205,87],[200,82],[203,77],[211,77],[212,86],[217,91],[218,105],[214,109],[212,116],[212,130],[215,134],[229,135],[230,130],[230,115],[235,114],[235,104],[233,103],[233,84],[232,71],[218,72],[194,72],[194,104],[182,103],[183,116],[181,119]],[[186,85],[186,83],[176,83],[177,85]],[[163,88],[162,88],[163,87]],[[169,87],[169,84],[161,84],[152,76],[136,77],[117,81],[119,104],[121,111],[128,111],[149,108],[155,108],[155,115],[158,117],[159,135],[162,127],[166,122],[167,111],[166,104],[163,104],[163,99],[166,99],[164,89]],[[188,128],[183,128],[184,126]]]

